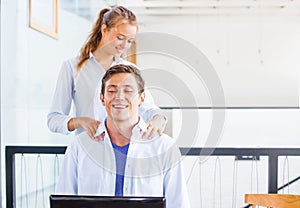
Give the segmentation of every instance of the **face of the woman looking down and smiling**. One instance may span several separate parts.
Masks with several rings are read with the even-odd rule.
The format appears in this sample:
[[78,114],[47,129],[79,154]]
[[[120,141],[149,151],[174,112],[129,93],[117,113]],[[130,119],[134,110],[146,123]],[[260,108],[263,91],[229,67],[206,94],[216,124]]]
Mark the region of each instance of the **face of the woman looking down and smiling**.
[[124,23],[113,28],[102,26],[102,39],[100,45],[113,56],[120,56],[128,49],[136,36],[137,27]]

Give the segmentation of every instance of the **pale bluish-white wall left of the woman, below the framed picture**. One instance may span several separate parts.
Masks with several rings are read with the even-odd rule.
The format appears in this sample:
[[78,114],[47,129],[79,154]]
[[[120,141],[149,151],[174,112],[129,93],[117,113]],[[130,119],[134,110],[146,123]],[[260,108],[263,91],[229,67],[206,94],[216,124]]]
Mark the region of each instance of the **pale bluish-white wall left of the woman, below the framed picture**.
[[[59,10],[59,38],[55,40],[28,27],[28,3],[29,1],[23,0],[1,1],[1,158],[3,161],[5,145],[68,144],[68,138],[72,136],[50,133],[46,115],[62,62],[78,54],[91,28],[91,22],[86,19]],[[1,189],[5,194],[5,162],[3,161],[1,174],[4,180]],[[45,186],[53,183],[53,172],[46,171],[46,173]],[[2,199],[4,204],[5,197],[3,196]]]

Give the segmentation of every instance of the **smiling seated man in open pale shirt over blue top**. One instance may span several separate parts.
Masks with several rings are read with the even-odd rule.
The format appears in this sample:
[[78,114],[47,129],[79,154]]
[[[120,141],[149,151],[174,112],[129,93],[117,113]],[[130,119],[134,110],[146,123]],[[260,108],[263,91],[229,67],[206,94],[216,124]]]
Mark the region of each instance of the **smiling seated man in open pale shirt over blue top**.
[[107,111],[97,133],[78,135],[67,148],[56,192],[102,196],[164,196],[167,208],[189,208],[180,151],[169,136],[142,139],[146,124],[138,107],[144,80],[134,66],[112,66],[102,79]]

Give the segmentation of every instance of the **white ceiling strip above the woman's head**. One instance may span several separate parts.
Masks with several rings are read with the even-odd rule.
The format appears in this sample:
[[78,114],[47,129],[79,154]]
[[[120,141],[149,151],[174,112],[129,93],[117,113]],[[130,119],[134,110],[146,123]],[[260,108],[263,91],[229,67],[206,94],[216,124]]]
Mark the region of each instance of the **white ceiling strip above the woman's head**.
[[99,9],[125,5],[138,16],[300,15],[300,0],[60,0],[60,7],[89,20]]

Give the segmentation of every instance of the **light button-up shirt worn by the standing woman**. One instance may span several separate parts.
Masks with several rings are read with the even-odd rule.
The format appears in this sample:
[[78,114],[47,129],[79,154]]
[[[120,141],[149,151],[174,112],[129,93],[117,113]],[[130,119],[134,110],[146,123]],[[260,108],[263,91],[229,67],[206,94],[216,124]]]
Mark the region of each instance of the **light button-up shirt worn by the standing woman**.
[[[78,74],[77,63],[78,57],[64,62],[58,76],[52,106],[47,115],[48,127],[52,132],[70,133],[68,122],[74,117],[69,115],[72,101],[76,117],[85,116],[101,121],[106,116],[105,108],[100,102],[99,90],[105,73],[103,67],[95,60],[92,53]],[[116,58],[111,66],[116,64],[134,65],[121,58]],[[162,112],[154,104],[151,93],[148,90],[145,93],[145,101],[139,111],[143,119],[148,122],[154,115]],[[79,128],[76,133],[83,131],[84,129]]]

